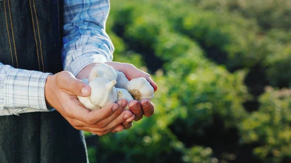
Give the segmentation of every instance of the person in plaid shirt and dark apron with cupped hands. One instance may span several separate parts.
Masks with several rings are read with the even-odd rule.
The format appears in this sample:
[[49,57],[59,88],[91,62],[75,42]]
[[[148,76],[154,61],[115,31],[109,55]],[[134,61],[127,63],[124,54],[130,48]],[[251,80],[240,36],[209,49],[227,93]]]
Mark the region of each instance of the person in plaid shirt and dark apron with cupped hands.
[[90,95],[80,79],[98,63],[129,80],[145,77],[157,90],[148,74],[112,62],[109,6],[109,0],[0,0],[0,163],[88,163],[80,130],[115,133],[153,114],[148,100],[131,101],[130,111],[124,99],[89,111],[76,98]]

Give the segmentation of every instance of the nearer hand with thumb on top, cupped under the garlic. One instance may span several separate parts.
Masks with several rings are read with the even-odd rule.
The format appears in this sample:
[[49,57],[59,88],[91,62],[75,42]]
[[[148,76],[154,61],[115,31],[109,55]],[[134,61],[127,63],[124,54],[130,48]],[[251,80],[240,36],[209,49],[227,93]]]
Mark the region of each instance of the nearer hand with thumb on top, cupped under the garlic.
[[[124,110],[125,99],[117,104],[90,111],[86,109],[76,96],[87,97],[91,94],[90,87],[74,77],[70,72],[49,75],[45,85],[47,103],[54,107],[77,130],[89,131],[97,135],[118,132],[131,126],[135,116]],[[121,123],[128,125],[121,125]]]

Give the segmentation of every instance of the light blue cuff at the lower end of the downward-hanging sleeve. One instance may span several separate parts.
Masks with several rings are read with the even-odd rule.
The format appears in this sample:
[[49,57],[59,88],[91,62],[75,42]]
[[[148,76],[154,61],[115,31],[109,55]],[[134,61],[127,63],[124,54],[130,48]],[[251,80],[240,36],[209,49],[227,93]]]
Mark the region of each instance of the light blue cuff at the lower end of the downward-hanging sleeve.
[[101,54],[87,53],[79,56],[78,58],[72,60],[69,65],[65,66],[65,70],[77,76],[77,74],[86,66],[91,63],[104,63],[110,61],[105,56]]

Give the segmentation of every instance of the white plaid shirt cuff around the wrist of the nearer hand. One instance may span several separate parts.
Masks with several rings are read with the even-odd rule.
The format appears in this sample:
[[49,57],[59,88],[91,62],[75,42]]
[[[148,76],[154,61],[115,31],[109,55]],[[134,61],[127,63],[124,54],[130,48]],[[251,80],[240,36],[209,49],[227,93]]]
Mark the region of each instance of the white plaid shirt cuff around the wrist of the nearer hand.
[[48,109],[45,99],[45,84],[50,73],[11,69],[4,79],[4,107]]

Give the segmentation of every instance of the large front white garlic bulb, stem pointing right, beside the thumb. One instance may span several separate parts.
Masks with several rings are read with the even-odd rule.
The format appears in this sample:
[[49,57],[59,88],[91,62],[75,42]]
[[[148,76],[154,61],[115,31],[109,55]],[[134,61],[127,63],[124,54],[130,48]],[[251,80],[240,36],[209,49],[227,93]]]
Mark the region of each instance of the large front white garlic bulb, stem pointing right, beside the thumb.
[[103,108],[117,100],[117,93],[115,89],[116,80],[106,80],[102,77],[93,79],[89,86],[91,87],[90,100],[92,104]]

